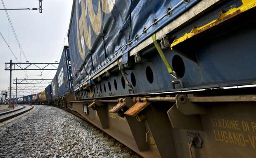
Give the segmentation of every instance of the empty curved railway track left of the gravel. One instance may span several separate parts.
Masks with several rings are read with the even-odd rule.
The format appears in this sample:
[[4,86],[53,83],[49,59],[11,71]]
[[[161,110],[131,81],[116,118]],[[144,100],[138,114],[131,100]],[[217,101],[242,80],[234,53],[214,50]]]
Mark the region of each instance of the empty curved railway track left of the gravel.
[[17,117],[17,116],[24,114],[25,112],[28,112],[29,110],[34,108],[32,105],[23,105],[23,106],[24,106],[23,108],[20,108],[17,110],[10,110],[8,112],[1,113],[0,114],[0,122],[4,122],[4,121],[7,121],[14,117]]

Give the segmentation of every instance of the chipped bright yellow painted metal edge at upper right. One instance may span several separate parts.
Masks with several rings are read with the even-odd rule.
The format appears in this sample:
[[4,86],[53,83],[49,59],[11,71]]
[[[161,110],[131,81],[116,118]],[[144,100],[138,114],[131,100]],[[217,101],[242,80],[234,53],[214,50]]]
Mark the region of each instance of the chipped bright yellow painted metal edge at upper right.
[[244,11],[247,11],[251,8],[256,7],[256,0],[242,0],[242,5],[238,8],[232,8],[228,10],[225,13],[221,13],[220,16],[216,19],[211,21],[210,23],[207,23],[204,26],[201,27],[195,27],[192,29],[190,33],[185,33],[183,37],[180,37],[178,39],[175,39],[173,43],[171,44],[171,50],[173,50],[173,47],[177,44],[180,44],[181,42],[190,39],[191,37],[194,37],[195,35],[204,32],[205,30],[208,30],[209,28],[218,25],[219,23],[222,23],[223,21],[232,18],[238,14],[241,14]]

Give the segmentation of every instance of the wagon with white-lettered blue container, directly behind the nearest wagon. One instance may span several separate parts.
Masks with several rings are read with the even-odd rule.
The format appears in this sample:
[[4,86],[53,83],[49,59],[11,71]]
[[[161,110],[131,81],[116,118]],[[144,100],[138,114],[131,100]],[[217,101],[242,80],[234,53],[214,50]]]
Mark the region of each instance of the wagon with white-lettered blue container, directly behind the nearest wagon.
[[66,108],[73,101],[69,46],[64,46],[56,75],[52,80],[52,98],[55,105]]

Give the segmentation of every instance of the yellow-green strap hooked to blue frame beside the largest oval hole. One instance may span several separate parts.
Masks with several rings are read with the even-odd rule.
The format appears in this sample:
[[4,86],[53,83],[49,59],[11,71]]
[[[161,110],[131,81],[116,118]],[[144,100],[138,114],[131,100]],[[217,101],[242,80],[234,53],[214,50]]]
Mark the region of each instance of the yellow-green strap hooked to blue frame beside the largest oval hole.
[[175,75],[172,74],[172,73],[175,73],[175,72],[173,71],[173,69],[171,68],[171,66],[170,66],[170,64],[169,64],[169,62],[168,62],[168,60],[167,60],[166,57],[164,56],[164,52],[163,52],[161,46],[159,46],[159,44],[158,44],[157,41],[156,41],[156,34],[153,34],[153,35],[152,35],[152,39],[153,39],[153,43],[154,43],[154,45],[155,45],[155,47],[156,47],[156,50],[158,51],[160,57],[162,58],[162,60],[163,60],[163,62],[164,62],[164,64],[165,64],[165,66],[166,66],[166,68],[167,68],[167,70],[168,70],[168,73],[170,73],[171,76],[173,76],[174,78],[177,78]]

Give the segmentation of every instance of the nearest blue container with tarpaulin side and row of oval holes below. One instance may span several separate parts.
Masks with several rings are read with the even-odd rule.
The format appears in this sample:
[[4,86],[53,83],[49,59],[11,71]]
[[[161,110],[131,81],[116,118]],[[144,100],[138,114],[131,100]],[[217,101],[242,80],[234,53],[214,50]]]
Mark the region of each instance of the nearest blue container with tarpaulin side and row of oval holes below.
[[[254,82],[256,77],[251,74],[256,73],[256,70],[252,69],[251,65],[255,65],[255,62],[250,58],[241,59],[239,55],[241,46],[233,46],[235,41],[232,39],[227,37],[224,40],[227,43],[226,50],[218,44],[218,38],[214,39],[215,43],[211,43],[216,49],[208,50],[212,46],[204,43],[204,49],[197,47],[194,53],[190,53],[190,47],[183,46],[187,41],[195,42],[190,38],[187,39],[191,34],[186,35],[193,28],[197,28],[198,25],[208,26],[209,21],[215,21],[216,16],[221,14],[217,7],[215,14],[212,12],[207,15],[208,21],[200,17],[191,25],[183,27],[183,30],[178,30],[178,27],[192,21],[192,18],[185,16],[185,13],[189,14],[187,11],[199,2],[201,1],[134,0],[130,6],[130,0],[115,0],[101,5],[97,3],[88,5],[90,3],[88,0],[74,0],[69,27],[69,48],[72,52],[71,66],[75,90],[78,90],[79,86],[87,85],[88,87],[91,82],[95,83],[97,80],[101,80],[101,83],[96,84],[95,94],[87,95],[90,98],[248,85]],[[175,5],[177,6],[171,10],[170,14],[166,15],[166,11],[168,9],[170,11]],[[229,0],[223,4],[223,8],[228,11],[233,6],[241,5],[241,0]],[[106,6],[108,6],[107,12],[104,9]],[[87,14],[88,10],[98,9],[99,14],[92,14],[94,16]],[[122,10],[121,13],[119,13],[120,10]],[[180,20],[181,15],[184,21]],[[156,20],[155,23],[153,23],[154,20]],[[167,25],[174,23],[173,21],[177,22],[175,26]],[[92,25],[92,22],[95,25]],[[168,63],[163,62],[156,50],[153,43],[154,35],[155,43],[158,42],[158,45],[163,48],[162,51]],[[233,36],[234,38],[242,37],[239,34],[233,34]],[[247,38],[254,38],[254,34],[248,34]],[[133,42],[129,43],[129,41]],[[198,46],[198,44],[195,45]],[[244,44],[243,47],[248,48],[247,56],[254,55],[254,51],[251,51],[254,49],[253,44]],[[230,58],[230,53],[235,55]],[[211,58],[208,58],[210,54]],[[220,56],[222,56],[221,59],[228,58],[232,63],[236,63],[237,60],[241,62],[236,63],[236,69],[233,69],[232,64],[223,62],[219,59]],[[126,76],[122,75],[119,67]],[[215,69],[218,71],[212,71]],[[126,78],[130,86],[125,84]],[[93,92],[93,88],[91,90]],[[97,90],[100,94],[97,94]],[[76,96],[85,98],[86,95],[82,93]]]

